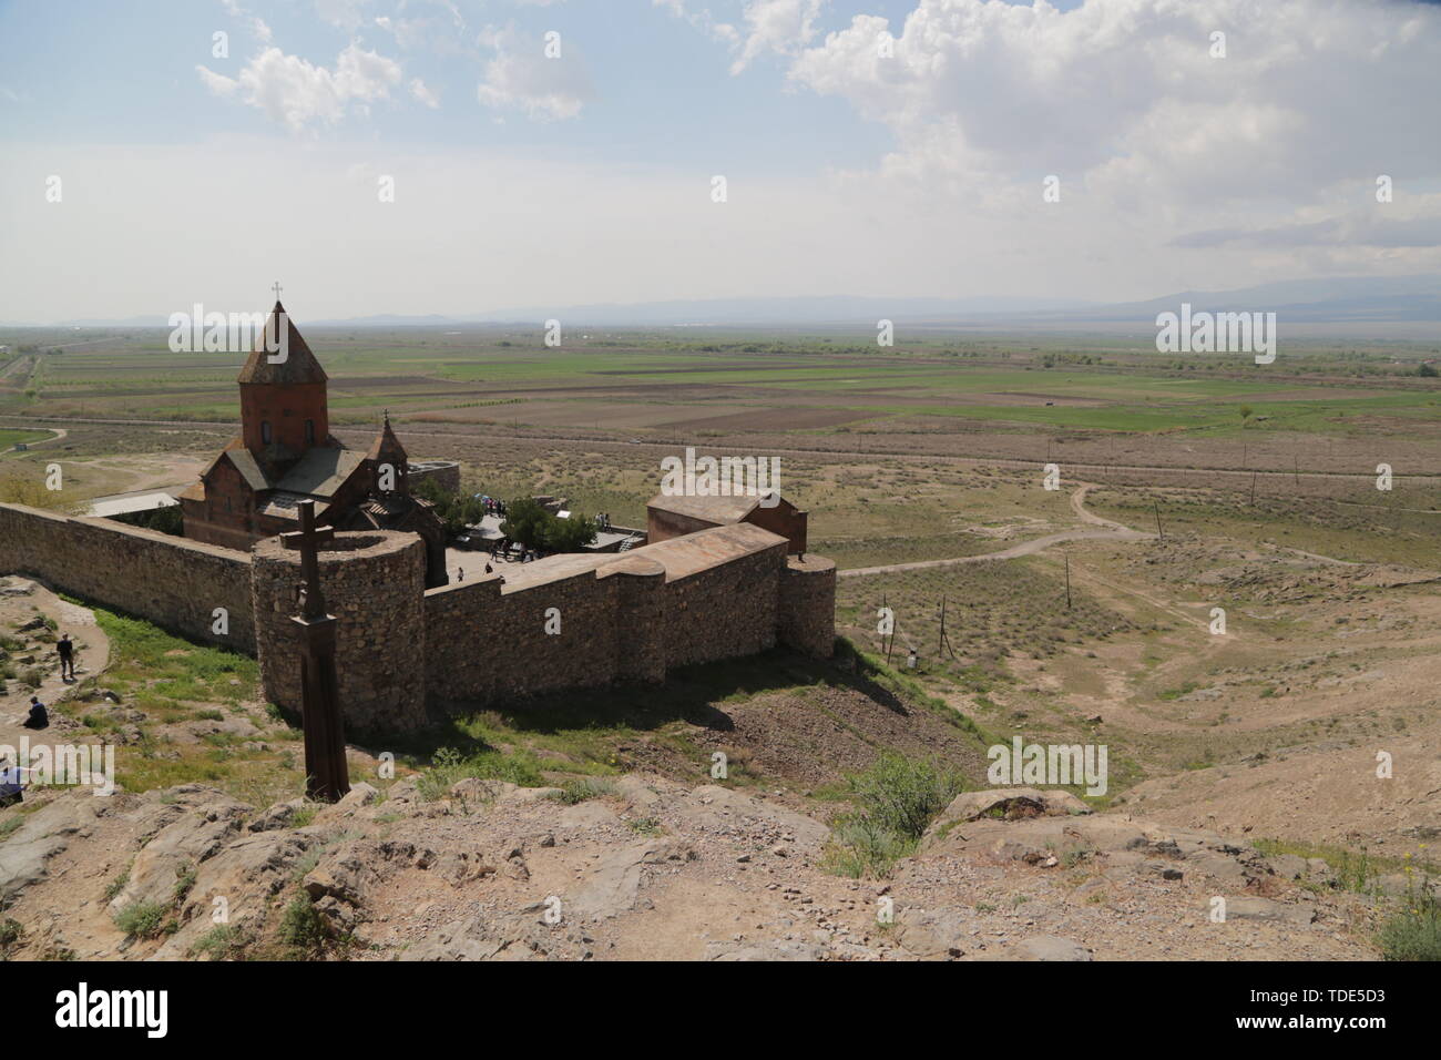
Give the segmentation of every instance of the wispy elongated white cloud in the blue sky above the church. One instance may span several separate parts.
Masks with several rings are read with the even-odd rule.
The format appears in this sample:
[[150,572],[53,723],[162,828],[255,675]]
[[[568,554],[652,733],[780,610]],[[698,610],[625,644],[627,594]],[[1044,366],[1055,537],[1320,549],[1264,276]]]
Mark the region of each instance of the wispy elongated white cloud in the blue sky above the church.
[[311,121],[334,124],[349,105],[367,114],[366,104],[388,100],[401,82],[401,66],[353,43],[336,59],[334,71],[314,66],[297,55],[267,48],[251,59],[238,78],[206,66],[196,68],[205,85],[222,98],[265,111],[272,121],[300,131]]

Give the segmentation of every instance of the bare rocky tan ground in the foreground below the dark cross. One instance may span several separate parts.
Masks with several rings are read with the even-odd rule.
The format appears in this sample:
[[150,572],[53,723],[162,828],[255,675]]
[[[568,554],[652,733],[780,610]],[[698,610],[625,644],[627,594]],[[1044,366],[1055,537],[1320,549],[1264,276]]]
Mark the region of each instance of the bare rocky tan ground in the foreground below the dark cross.
[[432,800],[414,779],[357,783],[324,808],[45,792],[0,841],[0,923],[20,959],[1378,956],[1375,909],[1324,862],[1062,792],[957,796],[883,881],[827,873],[830,829],[754,789],[631,774],[561,796],[476,779]]

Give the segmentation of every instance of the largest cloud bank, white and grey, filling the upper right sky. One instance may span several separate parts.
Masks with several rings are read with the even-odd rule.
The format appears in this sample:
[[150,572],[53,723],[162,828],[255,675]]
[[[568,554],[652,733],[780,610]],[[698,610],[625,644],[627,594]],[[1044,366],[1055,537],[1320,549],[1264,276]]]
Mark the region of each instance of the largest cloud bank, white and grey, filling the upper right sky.
[[[1435,7],[1087,0],[1061,12],[916,0],[883,58],[888,29],[857,16],[788,74],[892,133],[876,172],[852,176],[876,195],[1010,216],[1038,239],[1063,224],[1078,242],[1089,232],[1101,255],[1124,234],[1137,252],[1176,248],[1172,258],[1212,248],[1208,267],[1365,270],[1378,267],[1378,248],[1437,264],[1429,238],[1396,231],[1399,213],[1340,219],[1376,209],[1380,173],[1412,195],[1441,179],[1441,138],[1418,134],[1435,123]],[[1216,30],[1226,58],[1210,55]],[[1048,175],[1062,186],[1053,209],[1040,198]],[[1267,235],[1218,237],[1257,229]],[[1284,258],[1287,245],[1313,257]]]

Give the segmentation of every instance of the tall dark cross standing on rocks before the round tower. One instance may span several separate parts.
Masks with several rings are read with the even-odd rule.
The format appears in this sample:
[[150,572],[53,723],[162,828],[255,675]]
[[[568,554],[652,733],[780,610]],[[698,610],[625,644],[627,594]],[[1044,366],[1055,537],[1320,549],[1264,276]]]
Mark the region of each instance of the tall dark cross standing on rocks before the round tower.
[[300,549],[304,577],[301,611],[291,617],[301,639],[301,728],[305,734],[305,798],[336,802],[350,790],[346,734],[336,688],[336,616],[320,594],[318,547],[333,541],[333,526],[316,528],[316,502],[300,502],[300,531],[281,534],[285,548]]

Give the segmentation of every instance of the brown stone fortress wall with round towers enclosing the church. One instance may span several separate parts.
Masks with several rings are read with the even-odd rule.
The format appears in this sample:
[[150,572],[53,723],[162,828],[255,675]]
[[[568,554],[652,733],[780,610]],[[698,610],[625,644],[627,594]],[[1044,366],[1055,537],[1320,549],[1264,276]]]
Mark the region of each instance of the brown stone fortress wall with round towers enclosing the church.
[[[336,669],[347,725],[403,734],[428,710],[476,707],[667,671],[785,643],[829,658],[834,564],[787,555],[751,525],[718,526],[608,555],[507,565],[425,588],[412,534],[337,534],[320,552],[339,619]],[[137,529],[0,505],[0,573],[130,611],[261,663],[265,697],[300,710],[300,554],[277,538],[239,552]],[[225,607],[229,633],[212,632]],[[553,610],[552,610],[553,609]],[[548,632],[549,630],[549,632]]]

